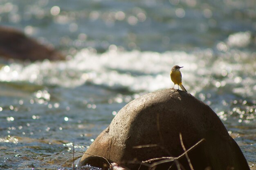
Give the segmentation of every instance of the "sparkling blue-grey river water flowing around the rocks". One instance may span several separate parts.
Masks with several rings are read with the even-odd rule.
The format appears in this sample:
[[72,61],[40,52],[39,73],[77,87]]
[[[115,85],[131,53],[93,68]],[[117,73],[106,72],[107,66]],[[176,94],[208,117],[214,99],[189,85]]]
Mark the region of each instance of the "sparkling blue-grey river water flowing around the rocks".
[[[0,169],[72,169],[126,103],[181,69],[256,169],[256,1],[0,0],[65,61],[0,60]],[[86,167],[93,170],[97,168]]]

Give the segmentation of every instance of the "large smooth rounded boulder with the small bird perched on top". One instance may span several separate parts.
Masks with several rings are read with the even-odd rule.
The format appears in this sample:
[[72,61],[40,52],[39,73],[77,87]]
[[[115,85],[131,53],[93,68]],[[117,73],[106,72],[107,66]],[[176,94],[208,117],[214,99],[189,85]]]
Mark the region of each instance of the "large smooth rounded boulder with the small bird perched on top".
[[[189,152],[195,170],[249,170],[243,153],[216,113],[191,94],[175,89],[149,93],[128,103],[86,153],[138,170],[139,161],[181,155],[184,150],[180,133],[186,149],[205,139]],[[150,144],[158,146],[134,148]],[[190,169],[186,157],[178,161],[186,170]],[[79,166],[87,163],[102,167],[106,161],[84,154]],[[164,163],[157,169],[167,170],[169,166],[171,163]],[[143,169],[148,168],[141,166],[140,170]],[[174,169],[175,165],[171,170]]]

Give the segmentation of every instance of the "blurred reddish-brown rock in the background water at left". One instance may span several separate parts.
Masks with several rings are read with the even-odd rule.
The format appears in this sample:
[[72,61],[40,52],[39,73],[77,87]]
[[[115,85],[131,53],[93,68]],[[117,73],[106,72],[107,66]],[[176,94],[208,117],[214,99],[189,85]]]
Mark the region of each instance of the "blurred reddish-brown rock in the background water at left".
[[41,45],[33,38],[10,27],[0,27],[0,57],[31,61],[65,59],[53,48]]

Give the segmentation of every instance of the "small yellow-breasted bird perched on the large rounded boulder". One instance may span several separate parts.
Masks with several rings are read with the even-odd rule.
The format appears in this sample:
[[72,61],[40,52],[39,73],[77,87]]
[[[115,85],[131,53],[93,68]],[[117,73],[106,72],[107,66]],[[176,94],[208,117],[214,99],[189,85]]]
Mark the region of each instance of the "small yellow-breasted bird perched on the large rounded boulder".
[[183,91],[187,92],[185,87],[182,85],[182,75],[180,72],[180,68],[182,68],[182,67],[180,67],[178,65],[173,66],[173,68],[171,69],[171,72],[170,72],[171,80],[173,81],[174,86],[177,84],[178,89],[180,86]]

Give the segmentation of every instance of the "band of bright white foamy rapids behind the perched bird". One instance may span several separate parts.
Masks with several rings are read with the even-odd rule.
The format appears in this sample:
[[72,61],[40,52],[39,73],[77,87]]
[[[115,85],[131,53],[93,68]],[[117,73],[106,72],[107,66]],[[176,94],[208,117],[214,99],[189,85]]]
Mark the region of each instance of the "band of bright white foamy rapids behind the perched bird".
[[248,33],[244,34],[238,33],[226,42],[219,42],[216,51],[157,53],[123,51],[112,45],[109,51],[97,54],[82,49],[67,61],[6,65],[0,70],[0,81],[64,87],[90,83],[110,89],[152,92],[173,87],[169,72],[174,65],[180,65],[184,66],[181,69],[183,84],[191,94],[223,89],[224,93],[250,97],[256,94],[256,53],[233,49],[229,45],[237,45],[237,40],[233,42],[234,37],[245,39]]

